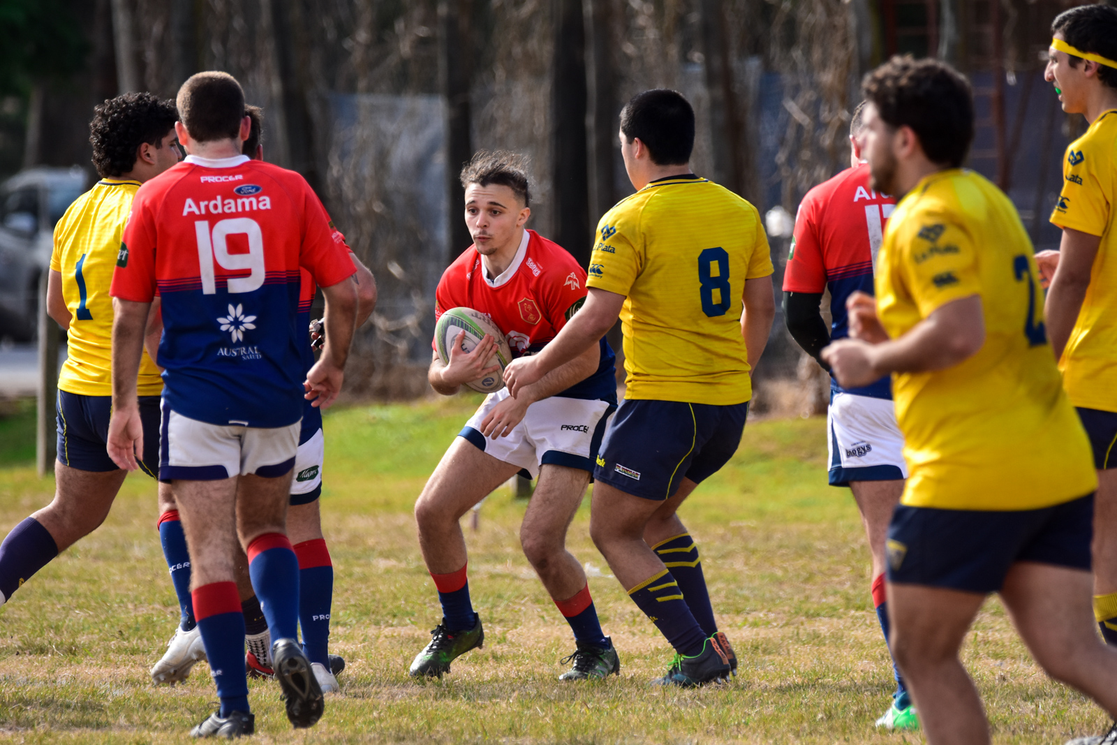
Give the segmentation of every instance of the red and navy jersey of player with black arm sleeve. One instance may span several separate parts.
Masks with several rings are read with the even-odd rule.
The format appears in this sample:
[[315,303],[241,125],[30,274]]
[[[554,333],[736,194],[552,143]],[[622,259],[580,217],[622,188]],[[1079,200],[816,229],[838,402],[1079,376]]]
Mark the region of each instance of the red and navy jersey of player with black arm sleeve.
[[[856,290],[872,295],[872,267],[896,200],[869,188],[866,163],[842,171],[806,192],[795,216],[795,239],[783,275],[785,293],[830,289],[830,337],[849,335],[846,299]],[[892,398],[888,376],[863,388],[831,389],[878,399]]]

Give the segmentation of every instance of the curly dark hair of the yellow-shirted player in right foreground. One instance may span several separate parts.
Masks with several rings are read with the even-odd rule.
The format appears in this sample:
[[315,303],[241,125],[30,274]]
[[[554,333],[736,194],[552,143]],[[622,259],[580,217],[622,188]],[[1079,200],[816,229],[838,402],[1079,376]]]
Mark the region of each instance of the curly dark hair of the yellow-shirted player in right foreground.
[[865,76],[861,93],[885,123],[909,126],[928,160],[958,168],[974,139],[970,83],[946,63],[892,57]]

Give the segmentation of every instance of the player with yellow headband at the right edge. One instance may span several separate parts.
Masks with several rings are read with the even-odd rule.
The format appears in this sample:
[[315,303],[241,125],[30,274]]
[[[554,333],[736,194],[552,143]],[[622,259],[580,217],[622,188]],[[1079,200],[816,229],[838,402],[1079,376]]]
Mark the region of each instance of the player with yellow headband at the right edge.
[[1046,77],[1063,111],[1082,114],[1090,126],[1063,160],[1051,216],[1062,228],[1059,250],[1035,259],[1054,275],[1047,299],[1051,346],[1094,448],[1094,614],[1106,641],[1117,644],[1117,8],[1071,8],[1051,31]]

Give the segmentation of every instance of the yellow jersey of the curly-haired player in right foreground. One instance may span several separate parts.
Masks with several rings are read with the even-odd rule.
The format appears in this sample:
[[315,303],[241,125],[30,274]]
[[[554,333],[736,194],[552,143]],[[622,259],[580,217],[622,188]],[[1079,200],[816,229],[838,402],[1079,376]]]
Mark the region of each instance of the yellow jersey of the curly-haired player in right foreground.
[[963,297],[981,296],[985,316],[985,343],[965,362],[892,375],[910,474],[903,504],[1038,509],[1097,488],[1009,198],[973,171],[929,175],[896,206],[877,261],[877,312],[892,338]]

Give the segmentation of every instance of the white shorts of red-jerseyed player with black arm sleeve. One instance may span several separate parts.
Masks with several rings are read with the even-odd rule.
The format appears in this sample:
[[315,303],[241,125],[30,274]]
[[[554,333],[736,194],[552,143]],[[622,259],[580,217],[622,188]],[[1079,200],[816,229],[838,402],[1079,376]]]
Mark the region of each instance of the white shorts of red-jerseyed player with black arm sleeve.
[[827,421],[831,486],[907,478],[904,436],[890,399],[833,392]]

